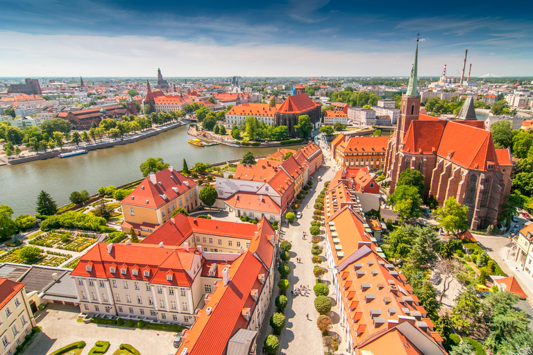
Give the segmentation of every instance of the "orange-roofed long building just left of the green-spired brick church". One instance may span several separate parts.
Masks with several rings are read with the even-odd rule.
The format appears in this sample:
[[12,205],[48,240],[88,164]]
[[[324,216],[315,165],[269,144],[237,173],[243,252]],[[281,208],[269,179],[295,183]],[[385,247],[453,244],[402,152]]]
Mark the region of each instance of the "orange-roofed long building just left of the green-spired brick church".
[[337,166],[383,168],[390,137],[348,137],[335,146],[333,159]]

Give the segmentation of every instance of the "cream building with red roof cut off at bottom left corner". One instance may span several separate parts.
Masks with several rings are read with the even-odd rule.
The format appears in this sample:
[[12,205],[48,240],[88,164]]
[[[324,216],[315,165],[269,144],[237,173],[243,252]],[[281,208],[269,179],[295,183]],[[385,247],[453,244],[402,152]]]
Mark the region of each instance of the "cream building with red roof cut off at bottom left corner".
[[35,327],[33,313],[26,301],[24,283],[0,279],[0,340],[2,354],[15,354],[24,336]]

